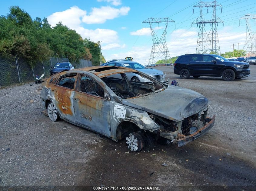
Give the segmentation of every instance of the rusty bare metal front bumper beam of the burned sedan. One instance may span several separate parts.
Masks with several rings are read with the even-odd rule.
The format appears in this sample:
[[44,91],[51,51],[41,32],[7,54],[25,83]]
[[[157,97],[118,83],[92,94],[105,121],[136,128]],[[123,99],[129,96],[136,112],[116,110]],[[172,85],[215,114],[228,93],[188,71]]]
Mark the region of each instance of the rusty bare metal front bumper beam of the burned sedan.
[[203,136],[206,132],[208,132],[214,126],[215,115],[212,118],[206,117],[205,122],[207,123],[205,126],[203,126],[201,129],[199,129],[197,132],[194,132],[191,135],[188,135],[188,136],[183,135],[184,137],[178,139],[175,145],[177,145],[178,147],[181,147]]

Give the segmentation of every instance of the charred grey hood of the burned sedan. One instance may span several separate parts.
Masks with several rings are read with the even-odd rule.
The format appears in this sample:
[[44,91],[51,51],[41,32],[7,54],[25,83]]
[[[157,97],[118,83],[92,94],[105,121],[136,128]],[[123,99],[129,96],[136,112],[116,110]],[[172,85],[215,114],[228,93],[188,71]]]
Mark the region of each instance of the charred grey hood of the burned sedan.
[[206,109],[208,99],[193,90],[170,85],[155,94],[122,99],[122,103],[178,122]]

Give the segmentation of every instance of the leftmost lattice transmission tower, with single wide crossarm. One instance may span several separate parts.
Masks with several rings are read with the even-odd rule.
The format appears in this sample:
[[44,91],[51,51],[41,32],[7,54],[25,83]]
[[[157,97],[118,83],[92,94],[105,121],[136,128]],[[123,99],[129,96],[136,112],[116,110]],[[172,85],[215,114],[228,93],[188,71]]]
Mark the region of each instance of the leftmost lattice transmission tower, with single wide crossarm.
[[[147,20],[143,21],[143,23],[149,23],[150,30],[151,30],[151,36],[153,41],[153,46],[150,54],[150,58],[148,61],[148,64],[155,64],[158,61],[158,58],[160,59],[170,59],[170,53],[166,45],[166,33],[167,33],[167,26],[168,23],[174,22],[172,19],[165,17],[165,18],[148,18]],[[165,30],[162,33],[160,39],[158,38],[157,34],[154,31],[154,28],[152,27],[153,23],[158,23],[158,30],[159,30],[159,23],[165,24]],[[141,28],[142,28],[141,24]]]

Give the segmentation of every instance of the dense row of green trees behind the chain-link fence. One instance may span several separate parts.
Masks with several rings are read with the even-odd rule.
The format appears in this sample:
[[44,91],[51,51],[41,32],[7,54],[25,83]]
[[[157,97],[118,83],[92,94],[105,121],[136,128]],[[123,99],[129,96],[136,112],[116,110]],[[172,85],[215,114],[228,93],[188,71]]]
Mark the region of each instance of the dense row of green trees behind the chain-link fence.
[[25,59],[32,67],[50,56],[68,56],[71,62],[83,58],[99,65],[100,49],[61,22],[51,27],[47,18],[32,20],[26,11],[11,6],[6,16],[0,16],[0,56]]

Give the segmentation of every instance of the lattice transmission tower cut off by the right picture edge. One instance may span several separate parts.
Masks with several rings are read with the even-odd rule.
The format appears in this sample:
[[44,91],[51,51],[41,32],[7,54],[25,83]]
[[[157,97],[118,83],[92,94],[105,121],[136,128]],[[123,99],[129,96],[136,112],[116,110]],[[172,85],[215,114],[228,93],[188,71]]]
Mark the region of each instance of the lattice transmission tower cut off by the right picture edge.
[[256,55],[256,34],[255,31],[251,29],[251,25],[249,21],[251,19],[256,19],[256,14],[246,14],[240,19],[245,19],[246,21],[246,41],[244,43],[244,50],[248,53],[248,56],[255,56]]

